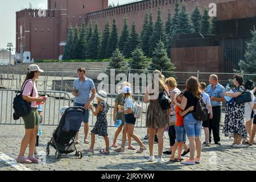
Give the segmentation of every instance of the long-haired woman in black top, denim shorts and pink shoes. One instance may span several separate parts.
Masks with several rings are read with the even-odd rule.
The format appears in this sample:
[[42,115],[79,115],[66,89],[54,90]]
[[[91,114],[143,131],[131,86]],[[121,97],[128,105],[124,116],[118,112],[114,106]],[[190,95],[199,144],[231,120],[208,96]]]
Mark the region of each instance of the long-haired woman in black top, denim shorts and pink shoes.
[[[189,107],[194,106],[193,111],[190,111],[189,113],[184,115],[184,127],[189,140],[190,155],[189,158],[181,161],[182,164],[193,165],[196,163],[200,163],[200,155],[202,148],[200,134],[203,122],[198,119],[195,119],[193,113],[195,113],[197,102],[201,100],[201,97],[202,94],[199,81],[196,77],[191,76],[187,80],[186,89],[183,94],[181,104],[176,104],[182,110],[186,110]],[[197,152],[196,158],[195,150]]]

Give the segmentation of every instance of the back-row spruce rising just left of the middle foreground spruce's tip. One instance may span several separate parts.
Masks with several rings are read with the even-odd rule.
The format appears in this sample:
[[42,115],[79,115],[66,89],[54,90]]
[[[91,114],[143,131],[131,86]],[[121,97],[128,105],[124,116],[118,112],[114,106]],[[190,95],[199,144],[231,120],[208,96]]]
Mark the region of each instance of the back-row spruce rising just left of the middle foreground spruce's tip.
[[131,25],[131,34],[129,36],[128,43],[125,46],[125,56],[131,57],[131,52],[139,45],[139,35],[136,31],[136,24],[133,22]]

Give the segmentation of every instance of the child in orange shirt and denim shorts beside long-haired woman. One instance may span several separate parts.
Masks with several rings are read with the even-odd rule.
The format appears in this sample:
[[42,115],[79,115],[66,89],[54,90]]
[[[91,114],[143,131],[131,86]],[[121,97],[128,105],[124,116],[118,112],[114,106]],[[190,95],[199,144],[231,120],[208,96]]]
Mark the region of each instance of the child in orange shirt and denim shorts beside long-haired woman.
[[[176,93],[174,96],[174,100],[177,101],[179,104],[181,103],[183,97],[183,93],[179,92]],[[186,142],[186,131],[183,123],[183,116],[187,114],[189,111],[192,111],[194,106],[189,107],[187,110],[181,110],[178,106],[175,106],[175,113],[176,113],[176,123],[175,123],[175,131],[176,131],[176,142],[174,147],[172,147],[172,154],[170,156],[170,162],[181,162],[183,160],[181,158],[181,151],[183,144]],[[175,158],[175,152],[178,148],[177,158]]]

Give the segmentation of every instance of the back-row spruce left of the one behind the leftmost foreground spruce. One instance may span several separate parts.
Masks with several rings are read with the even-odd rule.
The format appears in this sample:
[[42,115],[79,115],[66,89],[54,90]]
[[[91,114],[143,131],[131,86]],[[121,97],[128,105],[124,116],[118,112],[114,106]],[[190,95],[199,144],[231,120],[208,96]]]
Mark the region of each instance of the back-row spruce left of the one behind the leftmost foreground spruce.
[[100,52],[98,53],[98,59],[105,59],[108,57],[108,52],[107,52],[108,50],[106,48],[108,47],[109,36],[110,36],[109,20],[106,20],[104,32],[101,40]]

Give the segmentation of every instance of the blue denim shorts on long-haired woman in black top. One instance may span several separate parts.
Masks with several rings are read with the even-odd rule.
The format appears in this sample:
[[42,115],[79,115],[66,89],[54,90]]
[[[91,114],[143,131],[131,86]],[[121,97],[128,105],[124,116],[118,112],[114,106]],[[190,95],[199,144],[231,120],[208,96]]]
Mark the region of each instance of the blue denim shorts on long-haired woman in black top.
[[202,121],[193,117],[191,113],[184,117],[184,127],[188,137],[200,137]]

